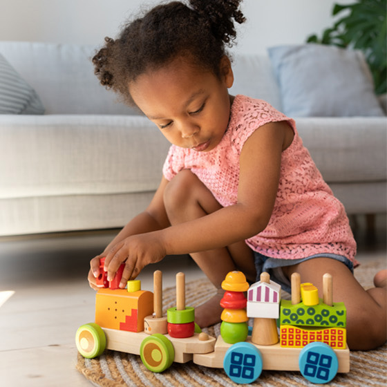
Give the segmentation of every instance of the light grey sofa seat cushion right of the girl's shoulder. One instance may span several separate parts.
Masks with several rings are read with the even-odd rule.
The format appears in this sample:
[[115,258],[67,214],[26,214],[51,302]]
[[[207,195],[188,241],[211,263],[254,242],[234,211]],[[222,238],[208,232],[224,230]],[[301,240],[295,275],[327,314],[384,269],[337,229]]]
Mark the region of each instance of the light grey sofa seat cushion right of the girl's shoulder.
[[386,184],[386,117],[300,117],[296,125],[328,184]]

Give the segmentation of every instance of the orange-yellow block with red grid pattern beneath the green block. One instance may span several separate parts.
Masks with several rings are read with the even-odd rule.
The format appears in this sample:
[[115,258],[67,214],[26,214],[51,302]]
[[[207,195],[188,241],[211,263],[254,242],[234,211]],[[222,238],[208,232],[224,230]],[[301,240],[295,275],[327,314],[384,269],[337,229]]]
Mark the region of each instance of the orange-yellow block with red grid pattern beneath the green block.
[[309,343],[320,341],[335,350],[346,349],[347,331],[345,328],[303,328],[293,325],[281,325],[281,347],[303,348]]

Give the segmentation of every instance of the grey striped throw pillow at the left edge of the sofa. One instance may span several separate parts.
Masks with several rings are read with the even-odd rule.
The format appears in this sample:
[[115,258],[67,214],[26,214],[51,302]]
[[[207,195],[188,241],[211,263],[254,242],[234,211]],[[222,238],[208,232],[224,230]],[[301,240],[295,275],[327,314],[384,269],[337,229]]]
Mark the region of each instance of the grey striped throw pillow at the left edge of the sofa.
[[0,54],[0,114],[43,114],[35,90]]

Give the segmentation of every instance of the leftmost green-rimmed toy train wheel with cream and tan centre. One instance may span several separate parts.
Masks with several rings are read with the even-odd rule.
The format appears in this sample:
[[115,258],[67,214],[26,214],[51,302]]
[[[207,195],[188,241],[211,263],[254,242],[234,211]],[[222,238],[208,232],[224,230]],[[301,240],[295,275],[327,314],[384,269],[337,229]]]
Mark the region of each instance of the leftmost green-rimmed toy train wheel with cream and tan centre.
[[106,336],[100,325],[88,323],[78,328],[75,343],[79,353],[87,359],[102,355],[106,348]]

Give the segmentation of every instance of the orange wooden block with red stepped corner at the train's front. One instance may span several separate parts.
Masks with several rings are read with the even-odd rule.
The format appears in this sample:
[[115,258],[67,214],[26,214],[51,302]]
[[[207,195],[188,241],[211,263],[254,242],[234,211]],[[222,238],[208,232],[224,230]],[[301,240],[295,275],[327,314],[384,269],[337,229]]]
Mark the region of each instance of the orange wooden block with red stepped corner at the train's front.
[[153,293],[147,290],[102,288],[95,296],[95,323],[102,328],[141,332],[144,318],[153,313]]

